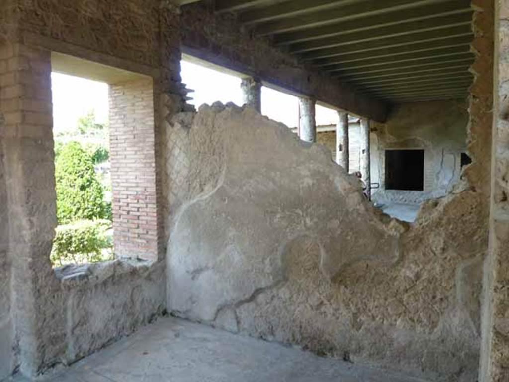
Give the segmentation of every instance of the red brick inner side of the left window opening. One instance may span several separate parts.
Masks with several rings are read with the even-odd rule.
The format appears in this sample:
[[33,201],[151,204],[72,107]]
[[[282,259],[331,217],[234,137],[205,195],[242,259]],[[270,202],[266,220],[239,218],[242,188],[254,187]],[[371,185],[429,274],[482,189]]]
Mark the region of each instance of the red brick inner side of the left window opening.
[[152,78],[109,86],[109,141],[115,256],[157,260]]

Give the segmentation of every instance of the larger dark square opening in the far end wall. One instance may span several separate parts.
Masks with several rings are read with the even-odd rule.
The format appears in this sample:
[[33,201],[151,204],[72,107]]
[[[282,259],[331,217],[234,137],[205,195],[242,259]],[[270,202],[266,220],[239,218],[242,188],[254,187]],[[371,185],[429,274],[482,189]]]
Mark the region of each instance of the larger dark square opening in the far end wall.
[[424,150],[385,150],[385,189],[424,190]]

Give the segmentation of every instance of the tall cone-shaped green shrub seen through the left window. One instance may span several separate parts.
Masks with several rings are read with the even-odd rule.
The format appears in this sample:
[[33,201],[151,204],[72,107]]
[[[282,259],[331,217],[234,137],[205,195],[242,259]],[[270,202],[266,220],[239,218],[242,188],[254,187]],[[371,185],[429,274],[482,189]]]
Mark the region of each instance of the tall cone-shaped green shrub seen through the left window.
[[78,142],[69,142],[60,149],[55,161],[55,181],[59,224],[108,216],[92,156]]

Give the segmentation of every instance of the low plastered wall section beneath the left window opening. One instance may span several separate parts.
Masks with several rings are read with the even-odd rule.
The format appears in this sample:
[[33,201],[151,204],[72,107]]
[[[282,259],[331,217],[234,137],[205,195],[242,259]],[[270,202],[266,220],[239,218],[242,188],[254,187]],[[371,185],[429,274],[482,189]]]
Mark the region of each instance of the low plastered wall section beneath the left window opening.
[[115,260],[56,270],[64,293],[63,363],[70,363],[153,321],[164,310],[164,266]]

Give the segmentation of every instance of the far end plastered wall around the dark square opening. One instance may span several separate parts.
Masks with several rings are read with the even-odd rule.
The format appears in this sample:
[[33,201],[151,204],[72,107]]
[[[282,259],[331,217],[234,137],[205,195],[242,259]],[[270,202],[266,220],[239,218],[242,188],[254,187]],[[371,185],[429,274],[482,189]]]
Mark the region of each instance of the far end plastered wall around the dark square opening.
[[[378,139],[372,142],[372,168],[379,176],[372,179],[380,183],[373,200],[420,203],[450,193],[460,179],[468,118],[467,104],[451,100],[395,105],[384,124],[373,123]],[[385,150],[390,149],[425,150],[422,192],[385,189]]]

